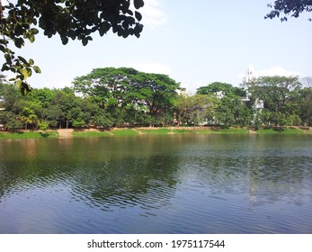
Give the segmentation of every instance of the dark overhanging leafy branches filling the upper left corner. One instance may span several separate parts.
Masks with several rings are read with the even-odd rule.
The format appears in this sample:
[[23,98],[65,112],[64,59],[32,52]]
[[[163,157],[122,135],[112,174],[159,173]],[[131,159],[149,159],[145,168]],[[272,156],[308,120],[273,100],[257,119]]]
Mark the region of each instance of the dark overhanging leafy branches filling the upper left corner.
[[132,2],[136,10],[144,5],[143,0],[18,0],[6,5],[0,0],[0,50],[5,59],[1,70],[16,74],[15,85],[22,94],[31,90],[26,79],[33,71],[40,73],[40,67],[32,59],[16,56],[12,47],[22,48],[25,40],[32,43],[39,33],[38,27],[49,38],[58,33],[64,45],[69,39],[77,39],[85,46],[93,40],[91,34],[95,31],[100,36],[112,30],[123,38],[139,37],[143,30],[139,23],[142,15],[132,11]]

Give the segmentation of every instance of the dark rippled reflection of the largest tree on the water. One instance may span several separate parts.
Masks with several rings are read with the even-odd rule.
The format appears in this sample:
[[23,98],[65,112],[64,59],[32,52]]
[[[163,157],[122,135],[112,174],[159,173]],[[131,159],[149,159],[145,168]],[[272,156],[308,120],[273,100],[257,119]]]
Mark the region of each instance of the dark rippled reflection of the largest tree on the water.
[[[87,166],[87,168],[86,168]],[[163,207],[174,190],[179,163],[170,157],[109,157],[86,165],[78,163],[72,179],[73,198],[111,211],[139,205],[145,210]]]

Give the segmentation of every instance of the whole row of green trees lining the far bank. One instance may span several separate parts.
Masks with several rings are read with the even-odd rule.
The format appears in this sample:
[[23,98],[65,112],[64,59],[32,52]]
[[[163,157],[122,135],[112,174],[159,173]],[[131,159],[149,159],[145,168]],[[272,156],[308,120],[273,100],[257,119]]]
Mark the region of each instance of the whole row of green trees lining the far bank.
[[[249,99],[244,99],[247,97]],[[243,102],[244,101],[244,102]],[[254,106],[263,101],[263,109]],[[311,78],[263,76],[245,89],[215,82],[185,94],[169,76],[127,67],[96,68],[72,87],[20,89],[0,77],[5,130],[221,125],[312,125]]]

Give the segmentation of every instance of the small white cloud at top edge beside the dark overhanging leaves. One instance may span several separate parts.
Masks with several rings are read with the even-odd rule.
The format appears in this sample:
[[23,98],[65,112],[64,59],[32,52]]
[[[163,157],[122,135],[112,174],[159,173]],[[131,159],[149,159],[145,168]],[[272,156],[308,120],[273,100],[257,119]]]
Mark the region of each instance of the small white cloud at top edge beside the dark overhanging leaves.
[[167,17],[160,7],[162,0],[145,0],[144,6],[140,9],[142,23],[145,26],[155,27],[167,22]]

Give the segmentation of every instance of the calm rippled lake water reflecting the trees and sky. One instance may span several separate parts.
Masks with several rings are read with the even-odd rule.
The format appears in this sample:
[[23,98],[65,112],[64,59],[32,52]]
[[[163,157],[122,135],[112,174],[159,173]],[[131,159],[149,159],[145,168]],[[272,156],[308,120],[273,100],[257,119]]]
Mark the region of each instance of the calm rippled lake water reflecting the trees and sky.
[[0,141],[0,233],[312,233],[312,136]]

